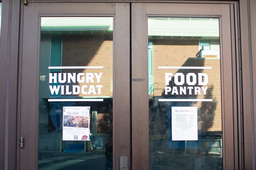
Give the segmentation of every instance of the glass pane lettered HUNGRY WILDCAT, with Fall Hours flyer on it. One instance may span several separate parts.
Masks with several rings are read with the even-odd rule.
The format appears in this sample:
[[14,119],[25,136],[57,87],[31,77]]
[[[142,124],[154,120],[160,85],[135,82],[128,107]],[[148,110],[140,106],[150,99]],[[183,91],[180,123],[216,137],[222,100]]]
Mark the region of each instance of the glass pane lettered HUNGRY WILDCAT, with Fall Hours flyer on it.
[[38,169],[113,168],[113,17],[41,17],[38,121]]

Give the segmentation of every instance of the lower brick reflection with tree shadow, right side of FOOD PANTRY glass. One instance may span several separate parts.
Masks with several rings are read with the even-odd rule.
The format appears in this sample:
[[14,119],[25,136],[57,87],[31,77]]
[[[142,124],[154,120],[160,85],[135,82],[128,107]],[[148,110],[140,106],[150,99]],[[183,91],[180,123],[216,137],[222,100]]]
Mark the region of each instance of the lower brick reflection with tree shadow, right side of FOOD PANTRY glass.
[[[203,90],[201,90],[201,95],[193,93],[192,95],[175,95],[175,97],[191,97],[196,99],[212,99],[212,102],[193,102],[191,106],[198,108],[198,128],[202,131],[221,131],[222,130],[222,112],[221,112],[221,82],[220,82],[220,59],[219,58],[189,58],[182,66],[204,66],[212,67],[212,69],[180,69],[177,73],[206,73],[208,75],[208,84],[203,86],[208,87],[206,95],[203,95]],[[185,78],[186,79],[186,78]],[[175,85],[175,84],[174,84]],[[175,85],[176,86],[176,85]],[[186,81],[183,86],[188,86]],[[198,85],[198,76],[197,83]],[[188,94],[188,92],[187,92]]]

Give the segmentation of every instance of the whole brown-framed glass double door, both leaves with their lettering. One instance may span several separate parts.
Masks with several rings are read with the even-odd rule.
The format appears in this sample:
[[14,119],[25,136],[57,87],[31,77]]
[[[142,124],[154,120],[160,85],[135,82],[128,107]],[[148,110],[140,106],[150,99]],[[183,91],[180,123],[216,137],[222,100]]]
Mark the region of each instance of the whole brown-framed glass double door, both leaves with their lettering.
[[17,167],[234,167],[232,8],[24,5]]

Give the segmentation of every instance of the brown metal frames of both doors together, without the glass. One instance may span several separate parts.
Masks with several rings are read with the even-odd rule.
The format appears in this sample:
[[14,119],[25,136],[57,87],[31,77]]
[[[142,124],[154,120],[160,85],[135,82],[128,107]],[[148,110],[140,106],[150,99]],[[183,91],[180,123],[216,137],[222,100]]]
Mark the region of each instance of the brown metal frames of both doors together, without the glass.
[[[56,4],[56,6],[54,6]],[[57,5],[58,4],[58,5]],[[63,4],[63,5],[62,5]],[[123,131],[127,131],[127,129],[130,129],[130,81],[129,79],[123,79],[123,77],[130,77],[130,50],[124,47],[130,46],[130,37],[129,34],[127,34],[130,31],[130,20],[129,15],[125,14],[124,11],[129,12],[129,4],[121,5],[122,3],[111,3],[114,4],[114,8],[110,7],[110,3],[105,3],[104,5],[100,5],[100,3],[94,4],[94,3],[86,3],[90,4],[92,6],[87,6],[88,8],[80,8],[80,3],[29,3],[28,6],[24,6],[24,9],[22,9],[22,12],[24,10],[24,21],[30,20],[34,23],[38,23],[38,16],[40,15],[47,15],[47,16],[86,16],[86,14],[92,14],[96,16],[97,14],[104,13],[106,15],[113,15],[115,14],[115,35],[114,35],[114,41],[115,41],[115,63],[114,63],[114,80],[122,80],[118,84],[116,83],[114,86],[116,89],[113,92],[113,95],[115,96],[113,108],[115,108],[114,113],[114,122],[115,122],[115,141],[113,141],[114,145],[116,146],[114,148],[115,156],[115,167],[119,167],[119,157],[120,156],[127,156],[130,154],[130,148],[128,147],[125,150],[125,154],[123,155],[120,153],[121,148],[124,146],[130,146],[130,136],[127,136],[127,133],[122,133]],[[103,3],[102,3],[103,4]],[[134,4],[134,5],[133,5]],[[71,5],[74,8],[78,8],[77,11],[74,12],[71,8],[68,8],[68,5]],[[170,4],[169,4],[170,5]],[[49,8],[51,6],[51,8]],[[102,8],[95,8],[101,6]],[[195,7],[203,7],[204,9],[208,9],[206,11],[207,14],[205,14],[203,11],[195,11],[193,10]],[[220,24],[222,25],[222,39],[223,44],[225,44],[224,48],[222,49],[222,56],[225,56],[222,58],[222,99],[223,99],[223,133],[224,140],[223,143],[235,143],[234,145],[225,145],[224,146],[224,169],[229,168],[238,168],[238,165],[234,162],[239,162],[237,159],[239,157],[239,160],[241,158],[241,152],[238,151],[236,146],[240,146],[241,143],[239,143],[237,137],[238,137],[238,131],[236,131],[237,125],[240,119],[236,115],[238,115],[236,108],[239,105],[236,103],[238,97],[236,96],[236,89],[239,87],[236,87],[236,84],[234,80],[236,80],[236,76],[239,74],[236,73],[236,69],[232,70],[232,67],[236,67],[236,55],[237,51],[234,51],[236,47],[231,46],[234,42],[235,34],[237,33],[237,28],[232,28],[232,25],[234,25],[234,17],[232,16],[232,11],[234,12],[234,6],[232,4],[178,4],[178,3],[172,3],[171,7],[173,10],[170,10],[170,7],[166,4],[160,4],[160,3],[131,3],[131,17],[132,17],[132,23],[131,27],[132,30],[137,29],[137,31],[132,32],[132,58],[131,58],[131,69],[132,69],[132,76],[131,76],[131,83],[132,83],[132,167],[134,169],[148,169],[148,96],[144,95],[148,93],[148,78],[147,78],[147,58],[143,57],[147,55],[147,25],[146,25],[146,18],[148,15],[172,15],[172,16],[221,16]],[[63,14],[63,8],[65,9],[65,14]],[[93,7],[93,8],[92,8]],[[169,7],[169,8],[168,8]],[[29,8],[29,9],[26,9]],[[107,9],[112,8],[112,12],[109,12]],[[161,10],[159,10],[161,9]],[[54,12],[53,12],[54,11]],[[171,12],[170,12],[171,11]],[[205,11],[205,10],[204,10]],[[86,14],[84,14],[86,13]],[[33,14],[33,15],[32,15]],[[38,14],[34,16],[34,14]],[[102,16],[102,15],[101,15]],[[232,18],[233,17],[233,18]],[[24,21],[22,20],[21,24],[24,24]],[[122,24],[119,24],[119,21],[125,21]],[[231,23],[228,25],[227,23]],[[23,27],[23,26],[22,26]],[[34,27],[34,28],[33,28]],[[22,42],[20,43],[20,46],[23,45],[22,49],[26,50],[20,50],[20,56],[30,56],[30,59],[36,58],[34,56],[38,56],[38,51],[31,54],[29,51],[33,51],[33,49],[38,49],[38,25],[30,24],[24,25],[24,29],[31,29],[32,31],[28,31],[29,35],[24,32],[21,32],[21,37],[23,37]],[[31,39],[37,39],[38,41],[35,41],[34,46],[28,45],[28,39],[25,39],[24,37],[30,36]],[[32,37],[31,37],[32,36]],[[124,38],[126,41],[124,41]],[[224,43],[225,41],[225,43]],[[118,43],[117,43],[118,42]],[[226,46],[227,45],[227,46]],[[230,45],[230,46],[228,46]],[[35,48],[36,46],[36,48]],[[143,47],[143,48],[142,48]],[[29,50],[30,49],[30,50]],[[118,49],[118,50],[117,50]],[[142,50],[141,50],[142,49]],[[38,59],[34,59],[34,61],[30,61],[29,57],[28,60],[24,60],[24,57],[22,57],[22,61],[20,61],[20,64],[22,63],[22,72],[26,73],[30,70],[34,69],[38,71]],[[29,63],[30,62],[30,63]],[[33,63],[37,63],[37,65]],[[125,64],[122,64],[125,63]],[[26,66],[27,65],[27,66]],[[225,65],[225,67],[224,67]],[[32,68],[31,68],[32,67]],[[26,70],[27,68],[27,70]],[[21,67],[20,67],[20,73],[21,73]],[[225,74],[223,74],[225,73]],[[228,74],[226,74],[228,73]],[[32,85],[34,87],[34,90],[29,92],[22,91],[21,94],[21,103],[18,103],[18,110],[26,109],[26,105],[22,104],[22,102],[27,102],[27,100],[30,97],[34,97],[34,101],[36,100],[36,96],[34,94],[37,94],[37,83],[38,79],[38,73],[30,73],[31,75],[28,76],[32,78],[34,84]],[[232,76],[230,76],[232,75]],[[21,82],[24,83],[29,80],[24,80],[23,77],[20,75]],[[239,80],[237,80],[239,81]],[[230,88],[229,84],[232,84],[233,88]],[[31,84],[30,84],[31,85]],[[20,85],[22,86],[22,84]],[[24,86],[24,85],[23,85]],[[122,88],[118,88],[118,87]],[[125,90],[124,90],[125,89]],[[30,89],[31,90],[31,89]],[[23,95],[23,96],[22,96]],[[37,95],[38,96],[38,95]],[[233,100],[229,100],[232,98]],[[136,104],[135,104],[136,103]],[[119,107],[119,106],[122,107]],[[37,103],[35,102],[35,105],[33,108],[31,108],[30,112],[37,113]],[[239,112],[239,110],[238,110]],[[32,115],[31,120],[37,120],[36,117],[37,114]],[[122,114],[120,116],[120,114]],[[118,115],[118,116],[117,116]],[[232,117],[232,119],[230,119]],[[19,118],[19,117],[18,117]],[[225,119],[226,118],[226,119]],[[25,118],[20,117],[21,120],[21,128],[18,129],[22,131]],[[234,124],[235,123],[235,124]],[[124,125],[129,125],[125,126]],[[225,126],[229,125],[229,126]],[[36,123],[35,126],[37,127]],[[121,127],[121,128],[120,128]],[[32,136],[36,135],[35,137],[25,135],[25,133],[20,132],[21,136],[25,137],[25,146],[30,146],[31,150],[29,148],[27,149],[27,152],[22,152],[22,149],[18,149],[18,153],[20,150],[20,156],[18,158],[22,158],[26,155],[30,155],[32,164],[25,165],[26,167],[37,167],[34,162],[37,162],[37,128],[31,129],[32,130]],[[227,133],[228,132],[228,133]],[[27,133],[27,132],[26,132]],[[19,134],[19,133],[18,133]],[[24,135],[25,136],[24,136]],[[27,133],[28,134],[28,133]],[[19,135],[17,136],[19,137]],[[34,143],[33,143],[34,141]],[[31,145],[28,144],[28,142],[31,142]],[[229,147],[229,148],[228,148]],[[35,154],[31,154],[30,151],[36,150]],[[228,156],[226,156],[226,152],[228,152]],[[25,154],[26,153],[26,154]],[[28,154],[30,153],[30,154]],[[33,151],[34,153],[34,151]],[[239,154],[240,153],[240,154]],[[239,154],[239,155],[238,155]],[[234,155],[234,157],[230,156]],[[129,156],[128,156],[129,157]],[[28,159],[28,158],[27,158]],[[23,161],[21,161],[23,162]],[[20,163],[24,164],[24,163]],[[240,164],[241,165],[241,164]],[[24,167],[25,167],[24,166]],[[19,161],[17,161],[17,167],[19,167]],[[22,169],[22,166],[21,166]]]

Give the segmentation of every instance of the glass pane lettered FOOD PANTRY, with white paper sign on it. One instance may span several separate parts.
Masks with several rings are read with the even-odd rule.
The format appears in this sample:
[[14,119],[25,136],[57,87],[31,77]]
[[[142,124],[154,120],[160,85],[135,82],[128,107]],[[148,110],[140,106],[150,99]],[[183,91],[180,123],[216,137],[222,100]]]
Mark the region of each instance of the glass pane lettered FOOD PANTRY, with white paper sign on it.
[[148,49],[149,169],[223,169],[219,19],[148,17]]

